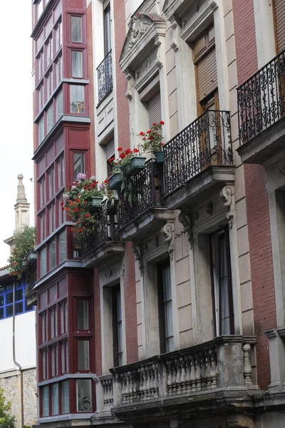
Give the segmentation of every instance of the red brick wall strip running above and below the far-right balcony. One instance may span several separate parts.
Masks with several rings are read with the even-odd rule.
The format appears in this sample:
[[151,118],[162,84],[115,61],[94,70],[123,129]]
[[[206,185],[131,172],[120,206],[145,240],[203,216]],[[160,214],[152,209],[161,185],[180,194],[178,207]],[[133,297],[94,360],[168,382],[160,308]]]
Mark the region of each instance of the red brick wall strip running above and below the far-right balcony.
[[[237,76],[242,84],[258,70],[253,0],[233,0]],[[244,165],[252,271],[254,331],[257,335],[257,380],[261,389],[270,382],[269,342],[264,330],[276,327],[269,200],[264,168]]]

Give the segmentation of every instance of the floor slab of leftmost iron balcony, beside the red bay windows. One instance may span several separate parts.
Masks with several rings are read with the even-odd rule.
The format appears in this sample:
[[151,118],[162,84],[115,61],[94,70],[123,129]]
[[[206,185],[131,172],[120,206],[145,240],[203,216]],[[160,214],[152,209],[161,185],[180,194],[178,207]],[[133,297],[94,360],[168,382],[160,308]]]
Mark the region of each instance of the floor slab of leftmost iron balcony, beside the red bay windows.
[[83,267],[103,267],[125,253],[125,243],[110,241],[90,250],[81,258]]

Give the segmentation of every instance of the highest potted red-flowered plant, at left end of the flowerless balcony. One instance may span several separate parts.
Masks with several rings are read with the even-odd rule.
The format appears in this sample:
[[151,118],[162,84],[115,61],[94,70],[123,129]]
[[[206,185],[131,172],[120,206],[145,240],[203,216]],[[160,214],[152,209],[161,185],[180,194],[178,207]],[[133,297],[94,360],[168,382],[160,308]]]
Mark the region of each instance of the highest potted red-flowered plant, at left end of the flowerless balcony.
[[157,163],[162,163],[164,154],[162,151],[162,147],[164,143],[162,143],[162,126],[165,123],[160,121],[159,123],[152,123],[150,129],[144,133],[140,132],[140,138],[142,138],[142,148],[143,151],[153,153]]

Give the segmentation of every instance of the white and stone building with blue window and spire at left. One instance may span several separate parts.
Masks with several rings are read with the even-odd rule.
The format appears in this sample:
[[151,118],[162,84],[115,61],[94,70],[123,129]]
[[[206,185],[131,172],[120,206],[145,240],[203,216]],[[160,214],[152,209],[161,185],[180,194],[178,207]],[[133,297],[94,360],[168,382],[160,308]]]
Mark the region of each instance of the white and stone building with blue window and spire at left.
[[[26,200],[23,175],[15,208],[15,230],[5,240],[11,249],[14,236],[29,225],[29,206]],[[16,428],[36,423],[36,318],[33,304],[26,298],[27,277],[14,280],[8,267],[0,269],[0,387],[11,401],[11,414]]]

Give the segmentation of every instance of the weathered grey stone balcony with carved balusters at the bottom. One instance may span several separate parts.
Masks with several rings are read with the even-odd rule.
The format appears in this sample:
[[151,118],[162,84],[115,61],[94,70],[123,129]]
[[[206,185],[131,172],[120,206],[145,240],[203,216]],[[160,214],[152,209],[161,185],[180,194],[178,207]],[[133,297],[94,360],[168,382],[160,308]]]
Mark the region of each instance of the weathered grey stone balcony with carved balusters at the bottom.
[[257,392],[251,365],[255,343],[255,337],[222,336],[115,367],[110,370],[113,390],[106,388],[106,402],[111,397],[116,419],[130,423],[157,420],[177,411],[198,415],[212,412],[217,405],[250,407]]

